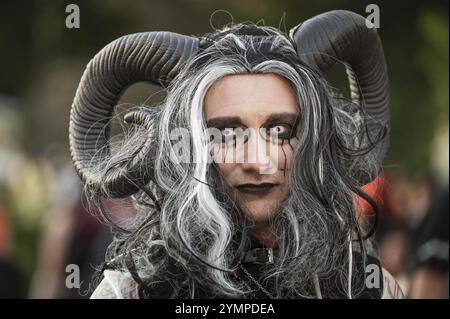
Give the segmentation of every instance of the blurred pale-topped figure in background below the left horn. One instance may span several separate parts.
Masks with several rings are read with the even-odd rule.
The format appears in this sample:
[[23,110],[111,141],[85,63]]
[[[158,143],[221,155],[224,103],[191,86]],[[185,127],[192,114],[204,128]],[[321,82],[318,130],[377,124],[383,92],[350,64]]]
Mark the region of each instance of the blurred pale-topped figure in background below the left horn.
[[[112,240],[109,228],[87,209],[74,175],[72,167],[65,167],[53,187],[52,209],[42,221],[31,298],[89,297],[92,275]],[[77,277],[67,280],[71,274]]]

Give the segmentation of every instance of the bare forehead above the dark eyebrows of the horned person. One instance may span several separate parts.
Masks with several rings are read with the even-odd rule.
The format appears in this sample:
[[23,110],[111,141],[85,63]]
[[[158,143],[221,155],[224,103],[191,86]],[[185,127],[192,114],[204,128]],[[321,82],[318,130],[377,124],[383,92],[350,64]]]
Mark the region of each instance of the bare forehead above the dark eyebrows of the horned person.
[[217,80],[205,96],[205,118],[238,116],[263,120],[273,113],[298,113],[289,81],[273,73],[233,74]]

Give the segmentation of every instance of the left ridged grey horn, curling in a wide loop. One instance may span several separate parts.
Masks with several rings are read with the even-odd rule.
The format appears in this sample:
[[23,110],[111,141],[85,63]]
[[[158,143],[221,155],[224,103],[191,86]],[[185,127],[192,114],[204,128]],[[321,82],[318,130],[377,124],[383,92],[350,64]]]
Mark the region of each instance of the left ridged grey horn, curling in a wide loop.
[[[146,81],[166,87],[182,65],[198,50],[198,39],[172,32],[144,32],[123,36],[104,47],[83,73],[70,113],[70,153],[75,169],[88,185],[102,185],[109,196],[123,197],[151,180],[143,169],[151,141],[144,143],[133,161],[104,176],[99,162],[111,159],[108,145],[110,120],[120,96],[130,85]],[[126,122],[148,126],[144,111]],[[102,177],[103,176],[103,177]]]

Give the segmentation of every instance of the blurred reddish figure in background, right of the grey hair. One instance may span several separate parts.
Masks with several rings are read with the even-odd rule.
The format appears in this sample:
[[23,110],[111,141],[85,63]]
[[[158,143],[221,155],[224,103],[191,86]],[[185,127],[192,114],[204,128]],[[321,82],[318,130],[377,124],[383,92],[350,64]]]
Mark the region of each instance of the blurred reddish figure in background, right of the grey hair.
[[411,289],[414,272],[415,234],[427,213],[432,189],[427,176],[411,179],[390,167],[384,169],[374,191],[381,212],[376,236],[380,259],[405,293]]

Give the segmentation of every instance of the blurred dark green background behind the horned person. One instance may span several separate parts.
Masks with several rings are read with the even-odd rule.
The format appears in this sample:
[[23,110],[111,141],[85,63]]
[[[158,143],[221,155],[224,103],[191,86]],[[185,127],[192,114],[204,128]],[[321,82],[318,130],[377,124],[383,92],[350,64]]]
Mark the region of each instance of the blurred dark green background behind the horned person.
[[[81,11],[67,29],[65,8]],[[380,29],[391,83],[392,132],[386,165],[410,179],[448,183],[448,1],[350,0],[85,0],[8,1],[0,5],[0,208],[14,234],[7,251],[29,279],[40,225],[58,201],[60,172],[70,167],[68,119],[85,65],[115,38],[141,31],[189,35],[229,22],[283,31],[316,14],[380,7]],[[332,84],[346,87],[344,75]],[[138,84],[122,103],[151,103],[161,91]],[[126,104],[124,104],[126,106]],[[76,189],[76,187],[74,187]],[[66,192],[72,192],[69,188]]]

